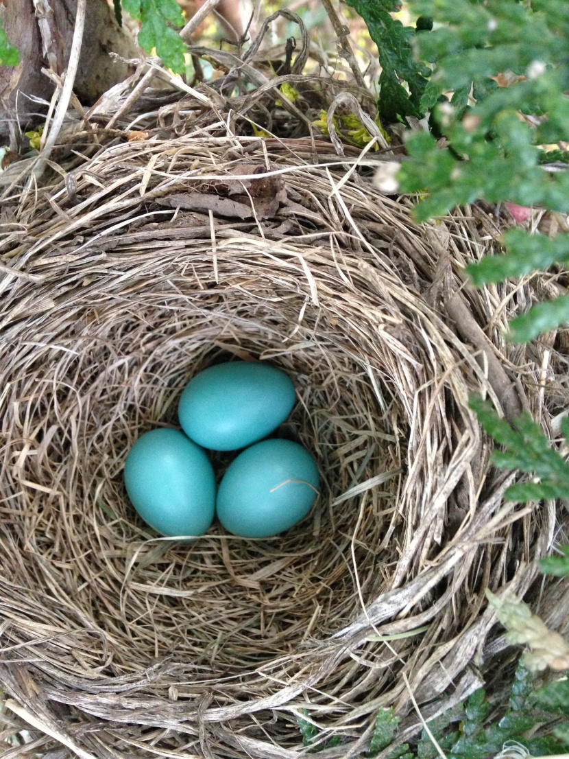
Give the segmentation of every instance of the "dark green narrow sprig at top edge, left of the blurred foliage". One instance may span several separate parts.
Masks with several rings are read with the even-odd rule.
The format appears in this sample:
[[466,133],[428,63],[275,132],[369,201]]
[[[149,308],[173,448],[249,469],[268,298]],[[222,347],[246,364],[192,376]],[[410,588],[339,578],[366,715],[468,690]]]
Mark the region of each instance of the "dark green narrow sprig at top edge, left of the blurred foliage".
[[[425,34],[431,26],[420,19],[417,31],[404,27],[391,17],[401,9],[399,0],[347,0],[366,22],[369,36],[379,51],[382,73],[379,77],[379,113],[387,121],[398,116],[421,116],[421,99],[431,70],[413,57],[412,43],[417,34]],[[407,85],[407,86],[405,86]]]

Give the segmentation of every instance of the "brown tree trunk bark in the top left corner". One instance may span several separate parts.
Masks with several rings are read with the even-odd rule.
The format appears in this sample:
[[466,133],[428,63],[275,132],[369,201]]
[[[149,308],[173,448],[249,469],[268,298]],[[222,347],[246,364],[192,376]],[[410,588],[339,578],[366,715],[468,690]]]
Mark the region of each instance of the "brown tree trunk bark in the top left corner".
[[[21,131],[41,123],[47,106],[30,98],[48,101],[54,84],[42,68],[62,74],[68,64],[77,0],[2,0],[0,18],[11,45],[20,51],[16,68],[0,66],[0,137],[11,137],[17,150]],[[90,106],[102,93],[130,71],[108,55],[136,58],[137,46],[130,32],[121,28],[107,0],[89,0],[81,58],[74,93]]]

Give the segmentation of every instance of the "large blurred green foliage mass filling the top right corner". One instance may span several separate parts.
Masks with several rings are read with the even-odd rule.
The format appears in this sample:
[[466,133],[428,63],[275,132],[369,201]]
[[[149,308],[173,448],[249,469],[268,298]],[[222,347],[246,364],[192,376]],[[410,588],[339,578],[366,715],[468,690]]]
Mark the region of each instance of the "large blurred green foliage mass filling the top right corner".
[[[408,5],[436,22],[429,33],[408,28],[401,36],[417,54],[415,84],[409,83],[411,93],[423,87],[418,106],[413,101],[416,113],[432,111],[436,134],[445,137],[444,146],[425,132],[407,140],[412,160],[401,166],[398,179],[402,191],[421,194],[417,220],[475,200],[569,213],[569,171],[543,168],[545,161],[569,161],[569,153],[540,148],[567,140],[566,0],[410,0]],[[433,73],[422,80],[426,63]],[[509,86],[497,87],[495,78],[505,74]],[[514,231],[505,235],[505,245],[505,256],[470,267],[476,285],[547,269],[569,256],[569,238],[562,234],[547,240]],[[550,301],[514,320],[510,338],[527,342],[567,323],[569,299]]]

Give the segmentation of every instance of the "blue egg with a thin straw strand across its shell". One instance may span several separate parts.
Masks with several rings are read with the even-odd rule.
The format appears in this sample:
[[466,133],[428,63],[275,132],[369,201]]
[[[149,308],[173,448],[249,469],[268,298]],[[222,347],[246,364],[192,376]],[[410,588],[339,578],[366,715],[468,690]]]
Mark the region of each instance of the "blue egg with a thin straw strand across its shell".
[[240,537],[276,535],[310,512],[318,483],[316,461],[297,442],[257,442],[225,472],[215,505],[219,521]]

